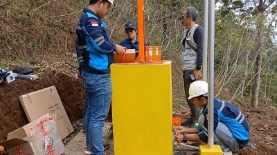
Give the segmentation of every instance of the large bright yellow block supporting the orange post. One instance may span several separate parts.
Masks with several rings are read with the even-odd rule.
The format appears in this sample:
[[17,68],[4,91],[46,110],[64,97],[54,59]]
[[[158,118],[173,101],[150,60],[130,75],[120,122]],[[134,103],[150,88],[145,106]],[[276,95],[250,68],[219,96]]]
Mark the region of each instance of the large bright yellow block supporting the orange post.
[[171,61],[111,65],[115,155],[172,155]]

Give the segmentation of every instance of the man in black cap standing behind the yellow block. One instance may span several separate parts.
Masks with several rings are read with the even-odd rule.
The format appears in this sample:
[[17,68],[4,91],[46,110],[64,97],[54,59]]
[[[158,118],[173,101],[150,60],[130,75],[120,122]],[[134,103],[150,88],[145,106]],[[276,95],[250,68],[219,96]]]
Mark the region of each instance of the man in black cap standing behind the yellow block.
[[[135,49],[136,50],[136,56],[139,55],[139,39],[137,37],[138,34],[138,26],[136,23],[130,21],[125,23],[125,33],[127,34],[127,39],[124,39],[119,43],[119,45],[122,45],[126,47],[127,49]],[[147,45],[145,43],[145,45]]]

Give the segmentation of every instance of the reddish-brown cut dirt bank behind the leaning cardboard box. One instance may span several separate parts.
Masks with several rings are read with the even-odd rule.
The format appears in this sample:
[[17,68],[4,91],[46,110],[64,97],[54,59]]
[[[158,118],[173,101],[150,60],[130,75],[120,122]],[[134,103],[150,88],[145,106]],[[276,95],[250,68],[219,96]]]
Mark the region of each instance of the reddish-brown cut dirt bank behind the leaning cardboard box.
[[82,118],[83,89],[80,80],[51,72],[35,81],[16,80],[0,85],[0,141],[28,123],[19,96],[55,85],[71,122]]

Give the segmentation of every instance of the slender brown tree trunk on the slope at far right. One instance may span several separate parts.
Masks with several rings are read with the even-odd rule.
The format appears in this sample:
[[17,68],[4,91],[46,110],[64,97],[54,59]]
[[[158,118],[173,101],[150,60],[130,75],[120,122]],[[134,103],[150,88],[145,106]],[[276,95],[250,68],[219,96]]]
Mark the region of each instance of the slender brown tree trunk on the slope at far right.
[[256,57],[256,77],[253,85],[252,91],[252,105],[257,108],[259,102],[259,90],[260,90],[260,72],[262,70],[262,48],[263,48],[263,37],[262,37],[262,28],[258,27],[258,54]]

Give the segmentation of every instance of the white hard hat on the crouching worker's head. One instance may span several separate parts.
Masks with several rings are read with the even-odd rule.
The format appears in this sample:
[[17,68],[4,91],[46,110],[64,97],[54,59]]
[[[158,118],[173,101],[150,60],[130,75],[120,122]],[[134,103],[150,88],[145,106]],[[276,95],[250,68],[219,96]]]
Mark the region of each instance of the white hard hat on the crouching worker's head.
[[193,99],[194,97],[205,95],[208,93],[208,83],[205,81],[194,81],[190,83],[190,89],[188,90],[188,100]]

